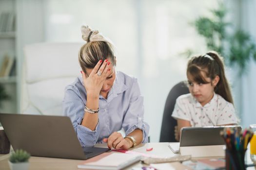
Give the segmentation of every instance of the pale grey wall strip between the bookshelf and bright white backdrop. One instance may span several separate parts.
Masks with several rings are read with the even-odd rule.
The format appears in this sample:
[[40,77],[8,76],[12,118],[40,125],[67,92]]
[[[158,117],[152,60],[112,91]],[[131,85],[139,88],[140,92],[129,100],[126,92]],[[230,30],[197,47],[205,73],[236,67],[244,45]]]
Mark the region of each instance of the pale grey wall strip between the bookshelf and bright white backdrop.
[[17,0],[17,102],[18,113],[20,113],[20,91],[23,88],[22,66],[23,66],[23,48],[27,44],[43,42],[44,33],[44,0]]

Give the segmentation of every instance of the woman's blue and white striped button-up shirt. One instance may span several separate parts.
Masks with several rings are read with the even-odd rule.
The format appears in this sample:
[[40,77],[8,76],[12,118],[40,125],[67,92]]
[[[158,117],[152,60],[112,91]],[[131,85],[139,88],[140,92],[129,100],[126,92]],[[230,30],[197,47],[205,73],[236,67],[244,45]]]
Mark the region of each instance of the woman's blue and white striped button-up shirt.
[[148,142],[149,125],[143,121],[143,96],[140,94],[136,78],[117,71],[116,80],[107,99],[99,96],[98,124],[96,130],[82,126],[86,90],[82,77],[66,86],[63,99],[64,115],[70,117],[81,146],[94,146],[101,143],[113,132],[124,129],[128,135],[135,129],[143,131],[142,143]]

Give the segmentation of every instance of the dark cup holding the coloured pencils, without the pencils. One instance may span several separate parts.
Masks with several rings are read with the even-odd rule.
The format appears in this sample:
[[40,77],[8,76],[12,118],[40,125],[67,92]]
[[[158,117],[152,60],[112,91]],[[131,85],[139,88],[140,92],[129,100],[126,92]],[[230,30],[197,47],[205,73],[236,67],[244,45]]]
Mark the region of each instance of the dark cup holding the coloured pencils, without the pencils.
[[226,170],[246,170],[244,151],[230,151],[226,149],[225,159],[226,159]]

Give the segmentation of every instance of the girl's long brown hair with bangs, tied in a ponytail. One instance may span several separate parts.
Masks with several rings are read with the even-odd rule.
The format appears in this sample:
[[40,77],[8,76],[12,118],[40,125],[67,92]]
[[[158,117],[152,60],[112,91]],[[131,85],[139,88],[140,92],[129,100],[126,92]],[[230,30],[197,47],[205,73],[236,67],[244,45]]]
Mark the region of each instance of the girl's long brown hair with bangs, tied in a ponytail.
[[201,71],[211,80],[219,76],[219,82],[214,88],[215,93],[222,96],[226,101],[233,103],[230,86],[225,76],[223,58],[216,51],[194,56],[188,61],[187,74],[192,75],[193,80],[197,83],[210,83],[204,79]]

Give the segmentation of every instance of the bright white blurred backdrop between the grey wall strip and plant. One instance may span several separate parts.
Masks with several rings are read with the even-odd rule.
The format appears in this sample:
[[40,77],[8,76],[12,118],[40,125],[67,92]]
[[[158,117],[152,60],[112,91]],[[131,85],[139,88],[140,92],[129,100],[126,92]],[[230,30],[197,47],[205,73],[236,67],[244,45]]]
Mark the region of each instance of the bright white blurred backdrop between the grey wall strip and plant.
[[[117,68],[138,77],[151,141],[159,140],[164,103],[173,85],[185,80],[188,48],[205,52],[189,24],[217,6],[215,0],[46,0],[45,41],[82,41],[87,24],[118,49]],[[76,58],[77,56],[74,56]],[[171,113],[170,113],[171,114]]]

